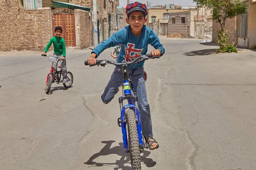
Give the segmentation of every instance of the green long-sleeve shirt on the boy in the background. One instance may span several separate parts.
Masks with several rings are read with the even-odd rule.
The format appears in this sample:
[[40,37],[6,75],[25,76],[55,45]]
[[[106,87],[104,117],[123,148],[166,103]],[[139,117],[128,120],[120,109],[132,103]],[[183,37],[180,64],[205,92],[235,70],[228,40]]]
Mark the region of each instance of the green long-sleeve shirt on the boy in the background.
[[63,55],[66,57],[66,45],[65,40],[62,37],[52,37],[49,43],[47,44],[46,48],[44,49],[45,52],[47,52],[50,48],[50,46],[53,43],[54,52],[58,55]]

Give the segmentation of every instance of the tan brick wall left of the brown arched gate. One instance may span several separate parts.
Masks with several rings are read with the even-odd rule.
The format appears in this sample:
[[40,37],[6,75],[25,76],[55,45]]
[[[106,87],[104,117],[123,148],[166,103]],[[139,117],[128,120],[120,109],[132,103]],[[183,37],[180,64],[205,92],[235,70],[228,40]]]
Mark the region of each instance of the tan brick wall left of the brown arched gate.
[[18,0],[0,1],[0,51],[44,50],[51,38],[50,8],[26,10]]

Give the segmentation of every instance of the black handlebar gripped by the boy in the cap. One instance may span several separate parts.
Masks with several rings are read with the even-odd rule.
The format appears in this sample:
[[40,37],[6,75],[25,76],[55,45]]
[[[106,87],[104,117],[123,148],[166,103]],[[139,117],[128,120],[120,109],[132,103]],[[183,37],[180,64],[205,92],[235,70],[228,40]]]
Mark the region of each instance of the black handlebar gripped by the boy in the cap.
[[[160,52],[160,57],[163,55],[163,52]],[[96,60],[96,64],[92,64],[90,65],[90,67],[95,66],[95,65],[101,65],[103,67],[105,67],[106,64],[113,64],[116,65],[118,67],[124,66],[124,65],[132,65],[134,63],[140,62],[140,61],[144,61],[147,59],[153,59],[153,58],[160,58],[160,57],[152,57],[151,54],[146,54],[146,55],[142,55],[140,57],[135,58],[134,60],[130,61],[130,62],[121,62],[121,63],[117,63],[111,60],[107,60],[107,59],[103,59],[103,60]],[[84,65],[88,65],[88,61],[84,62]]]

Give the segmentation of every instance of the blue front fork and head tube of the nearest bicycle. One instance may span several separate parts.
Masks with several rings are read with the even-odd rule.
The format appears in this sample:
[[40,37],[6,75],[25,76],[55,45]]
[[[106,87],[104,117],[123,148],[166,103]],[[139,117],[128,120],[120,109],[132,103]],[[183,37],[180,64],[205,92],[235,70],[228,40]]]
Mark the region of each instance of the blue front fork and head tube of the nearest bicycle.
[[[142,127],[141,127],[141,119],[140,119],[140,112],[138,110],[138,97],[131,94],[131,90],[134,91],[134,87],[132,82],[128,80],[127,76],[127,66],[123,66],[123,92],[124,92],[124,97],[121,96],[119,97],[119,105],[120,105],[120,111],[121,111],[121,127],[122,127],[122,139],[123,139],[123,145],[124,148],[126,149],[126,152],[129,152],[128,148],[128,138],[127,138],[127,131],[126,131],[126,115],[125,111],[126,109],[131,109],[134,111],[136,117],[137,117],[137,132],[138,132],[138,137],[139,137],[139,143],[140,143],[140,148],[144,148],[143,144],[143,135],[142,135]],[[128,101],[128,105],[123,106],[123,101],[126,100]]]

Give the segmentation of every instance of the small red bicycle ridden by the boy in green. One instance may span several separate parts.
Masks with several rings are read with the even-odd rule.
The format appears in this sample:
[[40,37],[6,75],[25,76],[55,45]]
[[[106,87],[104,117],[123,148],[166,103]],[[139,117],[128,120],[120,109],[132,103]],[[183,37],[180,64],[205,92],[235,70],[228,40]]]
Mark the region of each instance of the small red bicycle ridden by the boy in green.
[[[47,74],[46,88],[45,88],[45,93],[49,94],[52,83],[56,82],[57,84],[59,84],[60,82],[62,82],[61,75],[63,77],[63,74],[61,70],[58,71],[58,68],[60,68],[60,66],[58,66],[57,69],[53,67],[53,63],[54,62],[58,63],[61,60],[61,58],[56,58],[54,56],[48,56],[48,55],[44,55],[44,56],[48,57],[49,61],[52,62],[50,73]],[[70,71],[67,71],[67,82],[63,83],[63,86],[65,88],[70,88],[72,84],[73,84],[73,74]]]

